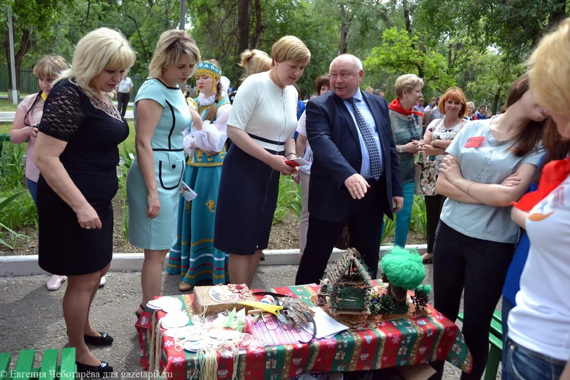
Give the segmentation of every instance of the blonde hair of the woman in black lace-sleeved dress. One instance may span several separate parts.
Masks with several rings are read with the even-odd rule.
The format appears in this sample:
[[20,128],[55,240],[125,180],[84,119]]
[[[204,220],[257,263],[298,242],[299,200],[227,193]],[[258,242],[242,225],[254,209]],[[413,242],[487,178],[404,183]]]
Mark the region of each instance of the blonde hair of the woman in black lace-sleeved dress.
[[99,28],[87,33],[75,47],[71,68],[54,81],[68,79],[87,96],[96,96],[91,80],[105,68],[128,69],[135,64],[135,52],[121,32]]

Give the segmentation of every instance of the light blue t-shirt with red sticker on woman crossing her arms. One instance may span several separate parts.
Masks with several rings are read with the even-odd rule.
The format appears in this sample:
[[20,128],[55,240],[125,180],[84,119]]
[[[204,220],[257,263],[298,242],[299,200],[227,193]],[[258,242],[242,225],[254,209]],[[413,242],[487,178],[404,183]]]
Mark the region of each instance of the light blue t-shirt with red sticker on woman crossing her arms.
[[[500,117],[500,116],[496,116]],[[490,132],[491,120],[473,120],[459,131],[446,152],[459,158],[463,178],[478,183],[500,185],[521,164],[538,166],[542,146],[523,157],[510,150],[513,140],[496,140]],[[484,137],[480,148],[465,148],[470,137]],[[447,226],[472,238],[499,243],[516,243],[519,227],[511,220],[511,206],[471,205],[447,198],[440,219]]]

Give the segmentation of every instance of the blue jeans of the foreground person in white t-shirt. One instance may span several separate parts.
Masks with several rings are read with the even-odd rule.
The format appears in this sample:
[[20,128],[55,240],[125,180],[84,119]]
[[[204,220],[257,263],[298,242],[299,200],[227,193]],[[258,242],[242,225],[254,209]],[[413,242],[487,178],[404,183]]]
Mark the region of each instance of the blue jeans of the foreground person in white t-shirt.
[[503,369],[503,380],[556,380],[560,378],[566,361],[548,357],[516,344],[507,337],[506,371]]

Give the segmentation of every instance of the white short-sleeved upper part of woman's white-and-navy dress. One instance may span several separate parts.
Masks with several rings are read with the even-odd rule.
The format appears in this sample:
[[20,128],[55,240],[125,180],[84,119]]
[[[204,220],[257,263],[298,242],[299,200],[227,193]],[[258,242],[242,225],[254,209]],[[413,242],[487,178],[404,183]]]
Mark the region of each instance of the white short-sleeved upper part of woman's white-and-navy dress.
[[250,75],[235,95],[227,125],[243,129],[264,149],[282,152],[297,128],[297,90],[279,88],[269,72]]

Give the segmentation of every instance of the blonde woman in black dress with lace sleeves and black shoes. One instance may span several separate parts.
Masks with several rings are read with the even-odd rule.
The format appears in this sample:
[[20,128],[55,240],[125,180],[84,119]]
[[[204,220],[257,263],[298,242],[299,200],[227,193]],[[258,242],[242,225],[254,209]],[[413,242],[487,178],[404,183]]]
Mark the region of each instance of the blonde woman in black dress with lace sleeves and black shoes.
[[113,257],[117,145],[129,134],[109,93],[133,63],[135,52],[119,32],[99,28],[84,36],[71,69],[50,91],[36,142],[39,265],[67,276],[69,346],[76,348],[78,372],[89,377],[113,371],[87,347],[113,342],[89,324],[89,308]]

